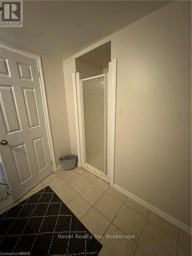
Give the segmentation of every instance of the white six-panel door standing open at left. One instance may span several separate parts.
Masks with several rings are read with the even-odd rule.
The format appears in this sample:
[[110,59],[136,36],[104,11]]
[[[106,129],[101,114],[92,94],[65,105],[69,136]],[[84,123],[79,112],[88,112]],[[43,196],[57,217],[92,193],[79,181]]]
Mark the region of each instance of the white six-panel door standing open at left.
[[13,200],[52,173],[37,63],[0,48],[1,156]]

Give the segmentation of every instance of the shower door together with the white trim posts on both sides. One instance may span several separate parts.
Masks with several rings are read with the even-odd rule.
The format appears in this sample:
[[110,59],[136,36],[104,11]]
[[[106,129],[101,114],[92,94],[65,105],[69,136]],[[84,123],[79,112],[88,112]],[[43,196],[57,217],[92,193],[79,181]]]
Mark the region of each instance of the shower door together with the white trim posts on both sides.
[[80,75],[73,73],[78,165],[113,184],[116,59],[107,73]]

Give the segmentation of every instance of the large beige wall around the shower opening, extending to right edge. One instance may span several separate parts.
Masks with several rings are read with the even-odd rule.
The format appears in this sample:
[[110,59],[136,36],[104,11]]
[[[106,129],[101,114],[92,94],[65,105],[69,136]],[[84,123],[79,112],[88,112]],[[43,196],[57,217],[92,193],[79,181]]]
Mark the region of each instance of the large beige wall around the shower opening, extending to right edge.
[[[176,1],[63,61],[73,95],[75,58],[111,40],[117,58],[115,184],[190,226],[190,2]],[[67,102],[76,148],[73,97]],[[119,110],[122,114],[119,115]],[[182,111],[181,118],[176,118]]]

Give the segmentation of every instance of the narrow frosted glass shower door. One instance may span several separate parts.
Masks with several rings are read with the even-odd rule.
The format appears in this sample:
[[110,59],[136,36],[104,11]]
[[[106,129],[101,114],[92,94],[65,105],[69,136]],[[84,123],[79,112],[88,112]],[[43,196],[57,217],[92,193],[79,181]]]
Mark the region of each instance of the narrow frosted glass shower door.
[[81,80],[84,160],[106,174],[106,76]]

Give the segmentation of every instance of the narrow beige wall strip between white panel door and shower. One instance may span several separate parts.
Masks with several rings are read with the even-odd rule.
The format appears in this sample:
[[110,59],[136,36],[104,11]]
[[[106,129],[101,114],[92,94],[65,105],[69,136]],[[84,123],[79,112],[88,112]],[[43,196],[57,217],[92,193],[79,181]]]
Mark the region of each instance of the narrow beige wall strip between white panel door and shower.
[[71,153],[62,61],[42,57],[56,165]]

